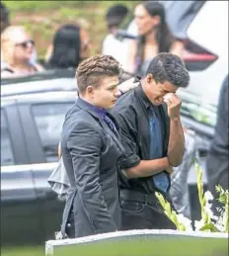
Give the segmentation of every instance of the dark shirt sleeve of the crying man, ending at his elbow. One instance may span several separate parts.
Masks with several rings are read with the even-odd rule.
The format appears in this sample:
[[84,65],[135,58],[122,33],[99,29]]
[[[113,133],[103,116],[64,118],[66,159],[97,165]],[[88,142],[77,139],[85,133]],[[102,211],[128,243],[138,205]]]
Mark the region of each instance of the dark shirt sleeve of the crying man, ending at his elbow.
[[125,157],[120,160],[120,167],[123,169],[131,168],[139,164],[137,146],[137,126],[134,113],[119,112],[116,119],[120,126],[121,143],[125,149]]

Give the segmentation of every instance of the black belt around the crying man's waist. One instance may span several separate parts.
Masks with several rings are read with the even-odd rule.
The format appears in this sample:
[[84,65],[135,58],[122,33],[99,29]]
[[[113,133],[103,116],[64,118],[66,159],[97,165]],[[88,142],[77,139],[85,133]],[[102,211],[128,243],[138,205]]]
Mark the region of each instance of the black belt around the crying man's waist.
[[158,202],[155,194],[143,194],[138,191],[120,190],[120,198],[123,200],[139,201],[145,204]]

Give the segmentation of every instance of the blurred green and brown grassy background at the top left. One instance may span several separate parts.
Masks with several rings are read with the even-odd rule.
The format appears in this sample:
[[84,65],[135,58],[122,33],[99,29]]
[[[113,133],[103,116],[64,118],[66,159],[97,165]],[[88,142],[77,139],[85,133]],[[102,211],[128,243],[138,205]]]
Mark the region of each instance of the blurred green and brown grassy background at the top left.
[[105,15],[114,4],[129,8],[126,27],[132,11],[139,1],[2,1],[10,10],[13,25],[26,26],[37,44],[38,56],[45,55],[55,30],[62,24],[76,23],[84,27],[92,41],[92,53],[101,51],[103,39],[108,34]]

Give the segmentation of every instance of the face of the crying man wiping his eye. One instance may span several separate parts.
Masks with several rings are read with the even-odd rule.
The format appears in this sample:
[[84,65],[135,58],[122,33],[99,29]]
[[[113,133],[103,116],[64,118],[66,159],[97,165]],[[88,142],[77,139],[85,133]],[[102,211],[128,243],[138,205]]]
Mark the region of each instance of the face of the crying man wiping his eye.
[[147,75],[145,77],[145,94],[153,105],[159,106],[164,103],[163,97],[168,93],[176,93],[178,90],[177,86],[172,83],[165,81],[163,83],[156,83],[152,75]]

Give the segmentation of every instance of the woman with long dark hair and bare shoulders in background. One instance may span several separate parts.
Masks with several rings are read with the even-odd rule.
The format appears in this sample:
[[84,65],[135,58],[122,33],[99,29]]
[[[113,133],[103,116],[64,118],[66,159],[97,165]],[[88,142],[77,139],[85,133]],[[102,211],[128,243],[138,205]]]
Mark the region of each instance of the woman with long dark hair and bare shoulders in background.
[[134,16],[139,37],[128,45],[124,69],[143,76],[150,61],[158,53],[171,52],[183,56],[184,44],[176,40],[171,33],[162,4],[156,1],[140,3],[135,7]]

